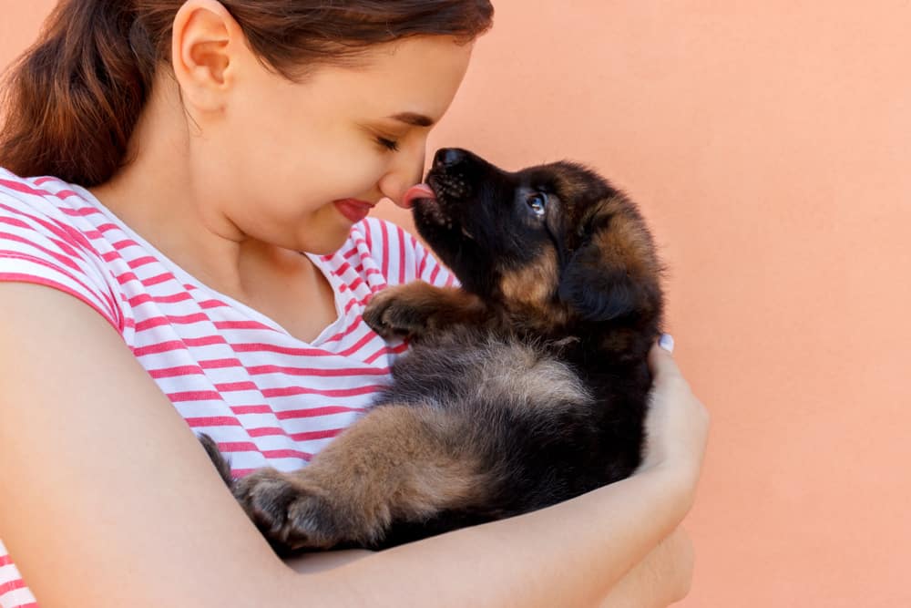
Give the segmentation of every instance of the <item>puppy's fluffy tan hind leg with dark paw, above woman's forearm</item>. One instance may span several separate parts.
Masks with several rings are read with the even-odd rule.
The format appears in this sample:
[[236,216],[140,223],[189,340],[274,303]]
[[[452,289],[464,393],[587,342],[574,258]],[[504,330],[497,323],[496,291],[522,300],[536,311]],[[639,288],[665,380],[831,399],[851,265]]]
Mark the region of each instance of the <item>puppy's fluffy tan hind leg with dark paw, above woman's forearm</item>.
[[377,547],[394,521],[477,500],[486,484],[461,435],[438,409],[377,407],[305,469],[261,469],[238,480],[234,495],[280,548]]

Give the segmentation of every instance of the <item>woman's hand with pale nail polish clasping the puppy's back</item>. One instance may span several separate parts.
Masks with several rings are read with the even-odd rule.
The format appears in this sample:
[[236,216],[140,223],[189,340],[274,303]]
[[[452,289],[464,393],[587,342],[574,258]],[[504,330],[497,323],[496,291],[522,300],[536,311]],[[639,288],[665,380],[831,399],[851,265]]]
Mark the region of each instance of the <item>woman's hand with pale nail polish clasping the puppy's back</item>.
[[660,471],[680,482],[691,502],[699,481],[709,433],[709,413],[691,391],[674,361],[673,340],[662,336],[653,345],[649,367],[653,377],[645,421],[646,450],[639,472]]

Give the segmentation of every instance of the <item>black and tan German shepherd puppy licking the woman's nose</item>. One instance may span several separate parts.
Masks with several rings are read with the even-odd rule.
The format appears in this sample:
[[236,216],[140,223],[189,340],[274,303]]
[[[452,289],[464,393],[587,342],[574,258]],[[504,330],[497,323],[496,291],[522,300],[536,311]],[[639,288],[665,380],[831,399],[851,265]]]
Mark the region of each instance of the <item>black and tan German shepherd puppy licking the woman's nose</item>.
[[[661,266],[634,203],[569,162],[499,170],[441,149],[417,231],[461,287],[375,294],[410,352],[374,407],[290,473],[231,480],[279,551],[379,549],[578,496],[640,464]],[[433,196],[430,196],[433,191]]]

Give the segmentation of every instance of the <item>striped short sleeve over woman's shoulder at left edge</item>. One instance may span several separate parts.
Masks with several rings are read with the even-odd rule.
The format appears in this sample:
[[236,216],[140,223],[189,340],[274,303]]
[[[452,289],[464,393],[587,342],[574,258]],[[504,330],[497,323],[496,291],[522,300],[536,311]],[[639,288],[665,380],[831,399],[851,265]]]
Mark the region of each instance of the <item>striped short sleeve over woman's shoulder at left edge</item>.
[[46,285],[82,300],[123,331],[111,277],[87,234],[53,195],[25,180],[0,179],[0,281]]

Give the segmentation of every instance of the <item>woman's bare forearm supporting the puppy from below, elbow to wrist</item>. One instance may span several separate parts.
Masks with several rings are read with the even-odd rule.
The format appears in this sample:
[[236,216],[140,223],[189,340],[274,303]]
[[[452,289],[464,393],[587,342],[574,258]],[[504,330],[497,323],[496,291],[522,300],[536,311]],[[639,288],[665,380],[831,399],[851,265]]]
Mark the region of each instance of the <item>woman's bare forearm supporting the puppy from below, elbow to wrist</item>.
[[657,471],[643,472],[547,509],[383,551],[327,574],[369,580],[375,598],[401,593],[408,581],[412,602],[406,605],[420,605],[417,598],[435,598],[439,606],[598,605],[682,519],[676,484]]

